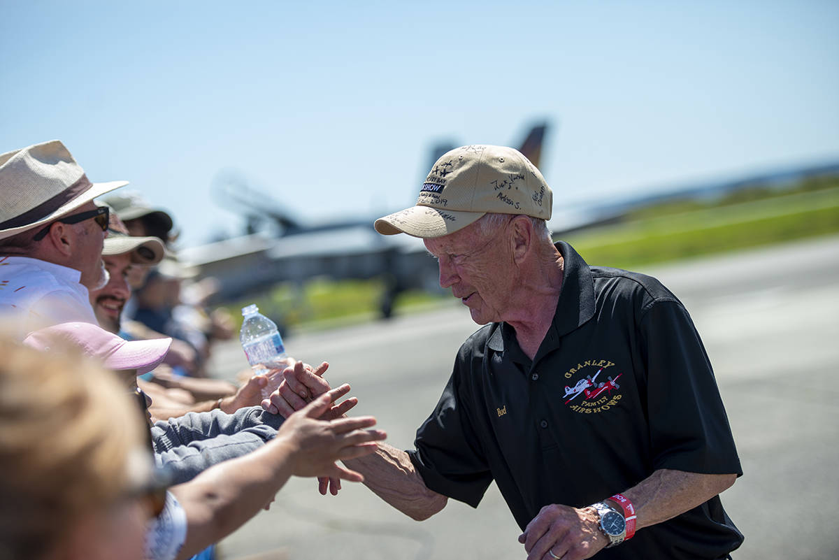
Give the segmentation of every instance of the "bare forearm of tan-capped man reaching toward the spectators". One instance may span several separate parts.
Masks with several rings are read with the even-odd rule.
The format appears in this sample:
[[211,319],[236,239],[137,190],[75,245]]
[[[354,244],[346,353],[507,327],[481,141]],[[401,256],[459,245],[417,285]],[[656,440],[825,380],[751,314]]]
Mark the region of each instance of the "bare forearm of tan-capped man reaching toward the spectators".
[[374,494],[416,521],[428,519],[446,506],[448,498],[425,486],[402,449],[380,442],[376,453],[345,463],[364,475],[364,485]]

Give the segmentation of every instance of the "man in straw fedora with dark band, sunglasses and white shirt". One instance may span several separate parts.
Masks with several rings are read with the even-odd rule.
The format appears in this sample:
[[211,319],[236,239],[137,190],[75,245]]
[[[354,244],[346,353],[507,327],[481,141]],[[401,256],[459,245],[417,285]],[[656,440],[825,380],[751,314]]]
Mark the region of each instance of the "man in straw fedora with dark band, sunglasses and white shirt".
[[108,209],[93,200],[125,184],[91,183],[58,140],[0,155],[0,317],[21,339],[39,326],[96,323],[87,296],[108,280]]

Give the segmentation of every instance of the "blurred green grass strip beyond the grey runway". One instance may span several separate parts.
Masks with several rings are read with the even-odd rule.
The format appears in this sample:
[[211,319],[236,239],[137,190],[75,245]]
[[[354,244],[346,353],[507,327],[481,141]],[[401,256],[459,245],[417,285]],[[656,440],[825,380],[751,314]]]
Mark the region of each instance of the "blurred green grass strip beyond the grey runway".
[[[561,236],[595,265],[633,268],[722,251],[770,245],[839,232],[839,177],[812,179],[791,189],[755,186],[719,200],[679,200],[635,210],[624,220]],[[302,288],[279,285],[260,298],[231,303],[239,309],[258,303],[263,313],[287,329],[347,324],[378,317],[380,280],[334,282],[317,278]],[[394,313],[446,301],[447,296],[403,293]]]

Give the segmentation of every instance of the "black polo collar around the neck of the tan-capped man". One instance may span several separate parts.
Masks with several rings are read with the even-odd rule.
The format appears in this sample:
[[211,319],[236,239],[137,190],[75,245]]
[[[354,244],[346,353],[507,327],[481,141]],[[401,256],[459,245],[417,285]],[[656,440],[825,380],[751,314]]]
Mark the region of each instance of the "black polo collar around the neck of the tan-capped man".
[[[561,336],[586,324],[594,317],[595,311],[594,280],[591,277],[591,268],[574,250],[574,247],[565,241],[557,241],[554,246],[562,255],[563,275],[554,319],[545,334],[545,340],[542,341],[543,345],[547,341],[550,346],[555,345]],[[508,346],[513,346],[518,350],[519,345],[515,343],[515,333],[510,325],[496,324],[494,329],[487,341],[490,350],[503,352],[505,340]],[[539,352],[535,357],[539,357]]]

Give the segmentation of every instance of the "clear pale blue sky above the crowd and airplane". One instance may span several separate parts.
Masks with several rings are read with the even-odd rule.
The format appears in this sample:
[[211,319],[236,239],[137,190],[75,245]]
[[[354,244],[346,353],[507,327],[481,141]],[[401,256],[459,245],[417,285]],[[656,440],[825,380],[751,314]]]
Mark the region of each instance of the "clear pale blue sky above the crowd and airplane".
[[836,2],[4,2],[0,152],[60,138],[182,246],[235,172],[301,220],[412,205],[434,143],[516,144],[562,205],[839,158]]

